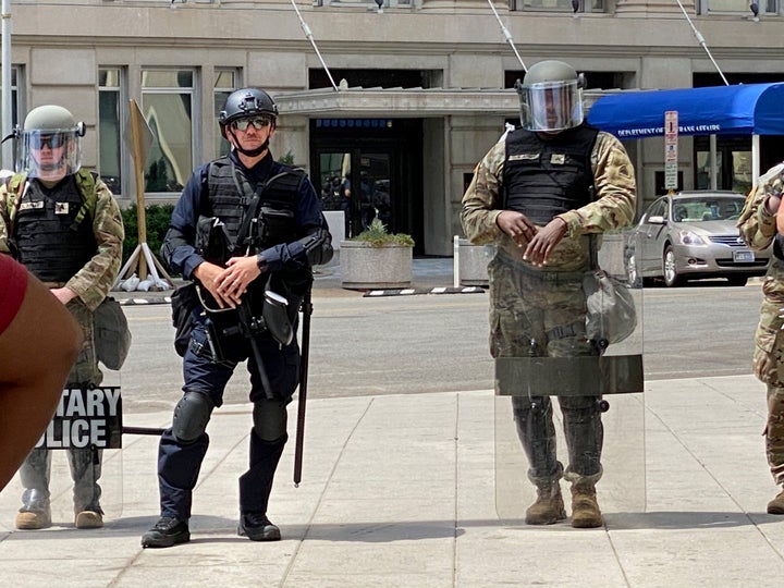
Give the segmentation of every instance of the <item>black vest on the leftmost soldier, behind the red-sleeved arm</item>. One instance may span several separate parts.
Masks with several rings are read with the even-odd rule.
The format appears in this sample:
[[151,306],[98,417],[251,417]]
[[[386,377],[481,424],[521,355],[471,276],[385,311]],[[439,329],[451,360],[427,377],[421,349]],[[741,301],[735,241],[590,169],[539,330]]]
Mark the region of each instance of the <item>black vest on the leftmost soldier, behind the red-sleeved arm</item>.
[[16,258],[44,282],[68,282],[98,252],[93,217],[76,223],[83,198],[73,176],[47,196],[33,180],[19,203],[13,240]]

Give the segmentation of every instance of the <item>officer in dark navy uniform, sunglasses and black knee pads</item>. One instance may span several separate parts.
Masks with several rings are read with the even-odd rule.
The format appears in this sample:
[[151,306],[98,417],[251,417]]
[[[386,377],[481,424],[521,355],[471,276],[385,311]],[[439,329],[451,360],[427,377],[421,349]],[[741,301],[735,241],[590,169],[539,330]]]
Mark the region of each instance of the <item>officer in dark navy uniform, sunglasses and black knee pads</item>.
[[259,318],[270,304],[266,293],[273,291],[287,299],[284,315],[296,333],[310,268],[328,262],[332,246],[310,181],[272,159],[277,117],[274,101],[262,90],[229,96],[219,124],[231,155],[193,173],[161,248],[167,262],[197,284],[199,298],[188,315],[193,331],[183,356],[184,394],[160,439],[161,517],[143,536],[145,548],[189,540],[193,489],[209,444],[207,421],[245,359],[254,411],[237,532],[254,541],[281,538],[267,518],[267,504],[287,440],[286,405],[298,384],[301,357],[296,336],[275,339],[271,329],[259,327]]

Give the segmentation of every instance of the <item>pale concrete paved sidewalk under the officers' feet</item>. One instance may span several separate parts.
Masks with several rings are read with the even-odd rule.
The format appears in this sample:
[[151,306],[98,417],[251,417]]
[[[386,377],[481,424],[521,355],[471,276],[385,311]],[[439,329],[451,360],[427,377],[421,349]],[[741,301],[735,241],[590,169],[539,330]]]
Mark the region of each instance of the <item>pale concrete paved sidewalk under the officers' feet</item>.
[[[126,436],[124,504],[102,529],[76,530],[65,516],[12,531],[19,494],[0,494],[0,578],[81,588],[781,586],[784,517],[764,513],[776,488],[760,436],[763,387],[751,376],[652,381],[645,402],[647,507],[614,509],[607,489],[624,471],[608,470],[603,528],[499,519],[495,397],[476,391],[310,402],[299,488],[293,406],[269,513],[283,540],[255,543],[236,536],[249,406],[232,406],[208,427],[189,543],[140,548],[158,513],[157,439]],[[131,418],[160,427],[171,414]],[[634,442],[613,430],[605,441]],[[105,468],[117,470],[109,453]]]

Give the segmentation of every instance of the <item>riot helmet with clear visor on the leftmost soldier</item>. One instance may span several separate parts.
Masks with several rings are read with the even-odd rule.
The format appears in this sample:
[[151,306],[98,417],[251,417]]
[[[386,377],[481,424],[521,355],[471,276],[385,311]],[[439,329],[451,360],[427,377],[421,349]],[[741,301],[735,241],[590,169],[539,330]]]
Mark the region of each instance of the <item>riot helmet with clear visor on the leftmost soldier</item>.
[[46,105],[27,113],[16,128],[16,169],[28,177],[57,182],[82,167],[83,122],[63,107]]

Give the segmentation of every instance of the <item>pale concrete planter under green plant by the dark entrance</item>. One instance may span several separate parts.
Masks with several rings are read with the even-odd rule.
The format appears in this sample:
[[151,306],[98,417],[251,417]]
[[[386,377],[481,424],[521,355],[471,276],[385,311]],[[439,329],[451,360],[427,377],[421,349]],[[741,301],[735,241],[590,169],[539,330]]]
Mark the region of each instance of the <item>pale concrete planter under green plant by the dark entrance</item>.
[[406,287],[412,283],[413,247],[373,247],[363,241],[343,241],[341,285],[346,289]]

